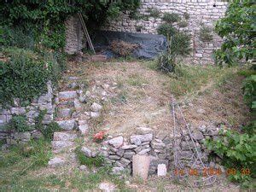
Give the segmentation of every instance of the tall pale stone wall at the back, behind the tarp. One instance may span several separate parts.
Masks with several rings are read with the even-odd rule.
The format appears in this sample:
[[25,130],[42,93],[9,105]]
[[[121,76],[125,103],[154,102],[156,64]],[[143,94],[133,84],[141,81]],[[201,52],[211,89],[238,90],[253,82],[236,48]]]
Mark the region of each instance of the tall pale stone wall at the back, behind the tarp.
[[[160,15],[164,13],[189,14],[188,26],[182,30],[191,35],[193,51],[189,61],[196,64],[213,63],[212,52],[220,47],[222,39],[213,34],[212,41],[203,42],[200,38],[201,24],[212,27],[214,22],[224,16],[227,9],[226,2],[219,0],[141,0],[141,15],[149,15],[148,9],[158,9]],[[118,20],[112,20],[105,30],[119,32],[157,33],[157,27],[163,23],[161,18],[149,17],[148,20],[131,20],[128,15],[122,15]],[[178,26],[177,26],[178,27]]]

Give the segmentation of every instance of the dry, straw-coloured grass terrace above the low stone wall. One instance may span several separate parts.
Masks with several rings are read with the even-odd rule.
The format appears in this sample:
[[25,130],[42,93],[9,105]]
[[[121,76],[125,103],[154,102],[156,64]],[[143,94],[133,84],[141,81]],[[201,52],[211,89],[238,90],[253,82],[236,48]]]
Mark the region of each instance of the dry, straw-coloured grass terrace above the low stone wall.
[[182,66],[171,76],[157,72],[152,61],[86,63],[74,68],[81,79],[87,79],[89,90],[96,84],[116,84],[100,123],[93,124],[96,131],[129,136],[142,125],[172,131],[171,95],[183,103],[192,125],[215,122],[236,127],[247,121],[236,68]]

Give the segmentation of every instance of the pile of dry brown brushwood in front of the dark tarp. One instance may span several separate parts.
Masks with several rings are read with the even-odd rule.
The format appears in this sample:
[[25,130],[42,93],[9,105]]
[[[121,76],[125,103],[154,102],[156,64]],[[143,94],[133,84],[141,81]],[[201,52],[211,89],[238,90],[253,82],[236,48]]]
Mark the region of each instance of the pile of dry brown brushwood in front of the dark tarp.
[[139,47],[138,44],[131,44],[125,41],[114,40],[110,44],[110,49],[113,50],[113,53],[121,56],[129,56],[132,54],[132,51]]

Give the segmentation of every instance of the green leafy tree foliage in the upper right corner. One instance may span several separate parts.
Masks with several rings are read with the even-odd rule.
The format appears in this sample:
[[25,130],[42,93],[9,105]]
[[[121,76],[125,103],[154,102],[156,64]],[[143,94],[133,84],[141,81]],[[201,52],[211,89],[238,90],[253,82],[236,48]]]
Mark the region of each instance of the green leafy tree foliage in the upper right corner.
[[[242,25],[241,25],[242,24]],[[231,1],[224,18],[217,21],[216,32],[224,44],[215,53],[218,65],[237,65],[255,58],[255,3]]]

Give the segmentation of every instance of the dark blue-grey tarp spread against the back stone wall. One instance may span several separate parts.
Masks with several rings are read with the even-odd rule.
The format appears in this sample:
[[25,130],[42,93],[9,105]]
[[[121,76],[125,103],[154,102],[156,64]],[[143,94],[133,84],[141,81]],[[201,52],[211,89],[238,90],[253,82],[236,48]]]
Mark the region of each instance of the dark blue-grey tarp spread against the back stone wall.
[[96,51],[101,51],[103,55],[115,57],[109,45],[113,40],[122,40],[131,44],[139,44],[139,48],[133,51],[133,56],[140,59],[154,59],[161,52],[166,50],[166,37],[163,35],[143,34],[133,32],[112,32],[97,31],[92,35],[92,44]]

